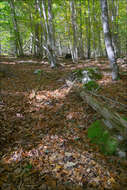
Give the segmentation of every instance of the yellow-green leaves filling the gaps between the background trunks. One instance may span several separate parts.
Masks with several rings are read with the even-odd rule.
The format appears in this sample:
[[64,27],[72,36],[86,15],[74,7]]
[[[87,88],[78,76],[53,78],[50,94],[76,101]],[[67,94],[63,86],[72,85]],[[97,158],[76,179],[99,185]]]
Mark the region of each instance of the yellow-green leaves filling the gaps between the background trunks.
[[[10,9],[10,1],[3,0],[0,1],[0,40],[2,46],[2,53],[13,53],[12,44],[15,44],[15,37],[14,37],[14,25],[13,25],[13,16],[11,14]],[[109,1],[110,2],[110,1]],[[32,45],[31,43],[31,36],[35,38],[35,28],[36,24],[39,25],[38,29],[38,36],[39,38],[43,39],[44,32],[42,24],[45,26],[45,19],[44,16],[39,14],[39,9],[42,9],[40,4],[40,8],[36,8],[35,6],[37,1],[35,0],[26,0],[26,1],[14,1],[15,5],[15,12],[16,12],[16,19],[19,27],[19,32],[21,35],[23,46],[25,47],[24,51],[29,52],[29,47]],[[45,1],[46,4],[46,14],[48,3]],[[110,7],[115,6],[112,3],[109,3],[109,15],[112,15],[112,9]],[[74,1],[74,7],[76,9],[76,19],[75,25],[77,28],[77,34],[79,34],[79,42],[77,46],[80,49],[81,41],[85,40],[87,42],[86,36],[88,36],[88,32],[90,35],[95,36],[95,38],[91,38],[91,53],[102,53],[104,52],[105,45],[104,39],[102,35],[102,24],[101,24],[101,9],[99,1],[93,3],[93,1]],[[93,10],[93,11],[89,11]],[[69,1],[60,1],[54,0],[52,3],[52,11],[53,11],[53,23],[55,27],[55,37],[56,41],[61,43],[63,48],[68,48],[69,45],[73,46],[73,27],[72,27],[72,11],[70,8]],[[121,40],[121,47],[120,49],[125,52],[126,46],[126,36],[127,30],[125,28],[126,25],[126,1],[119,1],[119,8],[118,8],[119,15],[114,12],[115,18],[112,21],[111,31],[115,35],[120,36]],[[95,19],[96,17],[96,19]],[[48,19],[48,18],[47,18]],[[86,27],[90,19],[90,25]],[[110,17],[109,17],[110,19]],[[84,24],[85,22],[85,24]],[[116,26],[116,27],[113,27]],[[89,28],[90,27],[90,28]],[[119,31],[117,31],[119,28]],[[82,38],[80,39],[80,34]],[[99,38],[101,38],[101,41]],[[86,43],[85,42],[85,43]],[[35,43],[35,39],[33,40]],[[94,43],[94,44],[93,44]],[[101,44],[100,44],[101,43]],[[27,44],[27,46],[26,46]],[[33,44],[34,45],[34,44]],[[100,46],[101,45],[101,46]],[[101,49],[102,48],[102,49]],[[121,51],[121,52],[122,52]],[[98,54],[97,53],[97,54]]]

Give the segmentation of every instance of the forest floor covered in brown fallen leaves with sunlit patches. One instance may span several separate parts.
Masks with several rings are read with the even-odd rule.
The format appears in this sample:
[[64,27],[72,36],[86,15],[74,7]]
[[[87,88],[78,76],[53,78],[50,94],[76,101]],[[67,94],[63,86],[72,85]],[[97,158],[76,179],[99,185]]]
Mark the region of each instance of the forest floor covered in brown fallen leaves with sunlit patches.
[[127,64],[113,82],[107,59],[59,62],[51,69],[46,60],[0,57],[8,68],[0,76],[0,189],[127,190],[127,160],[90,143],[87,129],[100,116],[65,82],[73,69],[96,65],[99,94],[119,110],[127,105]]

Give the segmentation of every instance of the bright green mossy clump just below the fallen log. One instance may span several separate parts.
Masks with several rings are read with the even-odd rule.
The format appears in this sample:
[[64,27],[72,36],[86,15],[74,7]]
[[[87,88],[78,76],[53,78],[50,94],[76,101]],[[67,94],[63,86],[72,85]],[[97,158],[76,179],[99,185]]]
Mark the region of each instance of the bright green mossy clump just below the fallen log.
[[101,120],[91,124],[88,129],[88,138],[90,138],[92,143],[99,145],[100,150],[104,154],[112,155],[118,147],[118,142],[111,137]]

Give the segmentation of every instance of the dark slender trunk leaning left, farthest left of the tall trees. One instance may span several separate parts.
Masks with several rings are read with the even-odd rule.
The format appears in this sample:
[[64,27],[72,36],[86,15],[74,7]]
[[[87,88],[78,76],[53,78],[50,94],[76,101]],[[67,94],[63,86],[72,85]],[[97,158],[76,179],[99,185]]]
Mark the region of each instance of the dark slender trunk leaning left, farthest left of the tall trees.
[[14,0],[10,0],[10,7],[11,7],[12,15],[13,15],[13,23],[14,23],[14,32],[15,32],[15,38],[16,38],[16,45],[17,45],[17,49],[19,50],[19,55],[22,56],[23,55],[23,48],[22,48],[22,42],[21,42],[20,32],[19,32],[16,13],[15,13]]

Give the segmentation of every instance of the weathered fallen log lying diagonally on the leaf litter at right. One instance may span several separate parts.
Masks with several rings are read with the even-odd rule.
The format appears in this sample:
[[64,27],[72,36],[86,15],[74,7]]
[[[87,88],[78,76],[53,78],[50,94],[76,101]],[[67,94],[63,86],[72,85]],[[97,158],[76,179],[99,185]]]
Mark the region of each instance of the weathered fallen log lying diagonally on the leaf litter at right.
[[[102,116],[102,124],[119,143],[119,150],[127,151],[127,121],[117,112],[104,106],[87,91],[80,92],[81,98]],[[122,146],[121,146],[122,145]],[[124,145],[124,146],[123,146]],[[118,151],[119,151],[118,150]]]

